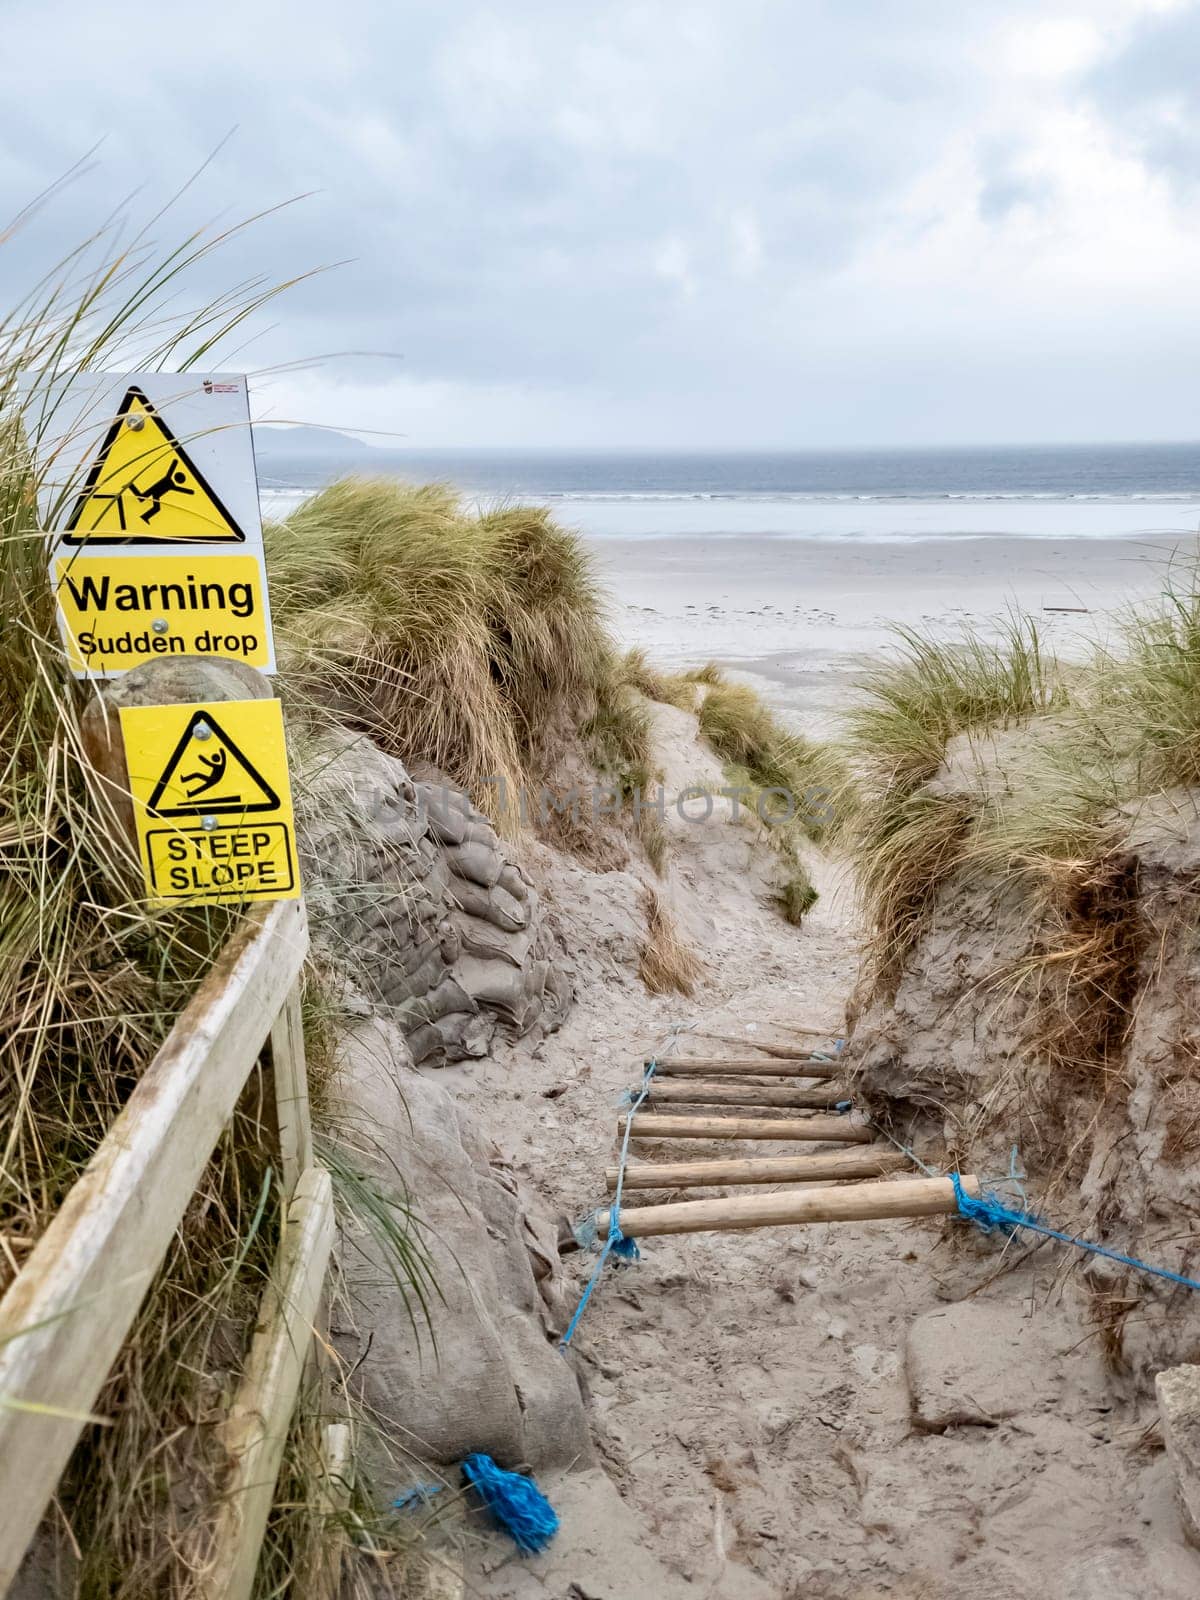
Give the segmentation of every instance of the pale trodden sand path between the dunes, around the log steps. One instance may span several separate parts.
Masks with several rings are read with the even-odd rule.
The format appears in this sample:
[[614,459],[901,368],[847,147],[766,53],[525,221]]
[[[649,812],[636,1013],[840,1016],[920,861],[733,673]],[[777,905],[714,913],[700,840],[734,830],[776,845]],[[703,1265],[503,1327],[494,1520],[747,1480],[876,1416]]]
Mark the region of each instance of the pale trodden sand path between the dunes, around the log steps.
[[[709,770],[693,728],[662,712],[678,786]],[[707,971],[694,998],[654,998],[627,962],[637,883],[595,878],[549,853],[534,870],[565,942],[581,952],[578,1005],[536,1050],[512,1046],[453,1077],[549,1203],[579,1216],[603,1200],[616,1101],[643,1053],[677,1022],[693,1029],[685,1053],[709,1035],[837,1027],[856,968],[853,926],[827,869],[818,867],[822,899],[797,931],[760,902],[742,829],[717,818],[677,824],[675,898],[702,936]],[[568,1258],[579,1288],[590,1266]],[[958,1224],[650,1242],[638,1266],[603,1280],[574,1357],[627,1514],[600,1491],[581,1506],[578,1488],[560,1485],[570,1509],[555,1558],[493,1570],[480,1557],[469,1592],[1200,1592],[1154,1411],[1114,1389],[1098,1341],[1056,1286],[1058,1258],[1042,1251],[997,1275],[1000,1266],[998,1246]],[[906,1362],[926,1416],[971,1421],[914,1427]]]

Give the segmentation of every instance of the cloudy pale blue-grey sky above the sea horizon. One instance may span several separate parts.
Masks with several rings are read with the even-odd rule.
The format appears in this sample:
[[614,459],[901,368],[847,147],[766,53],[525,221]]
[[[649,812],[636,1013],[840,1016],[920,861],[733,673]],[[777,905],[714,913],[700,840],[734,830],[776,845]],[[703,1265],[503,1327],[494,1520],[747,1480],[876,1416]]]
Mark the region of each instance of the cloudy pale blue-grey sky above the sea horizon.
[[1200,437],[1200,3],[0,13],[0,218],[86,157],[0,243],[0,306],[213,157],[165,246],[304,198],[194,293],[339,262],[229,363],[259,416],[422,450]]

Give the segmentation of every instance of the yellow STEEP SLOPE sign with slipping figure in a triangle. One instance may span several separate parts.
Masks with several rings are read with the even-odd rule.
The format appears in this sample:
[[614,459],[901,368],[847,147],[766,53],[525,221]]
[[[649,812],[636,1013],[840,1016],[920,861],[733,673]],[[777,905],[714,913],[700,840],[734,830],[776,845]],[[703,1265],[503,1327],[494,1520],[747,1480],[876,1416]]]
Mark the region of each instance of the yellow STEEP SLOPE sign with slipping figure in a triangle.
[[298,899],[280,702],[126,706],[120,718],[150,899]]

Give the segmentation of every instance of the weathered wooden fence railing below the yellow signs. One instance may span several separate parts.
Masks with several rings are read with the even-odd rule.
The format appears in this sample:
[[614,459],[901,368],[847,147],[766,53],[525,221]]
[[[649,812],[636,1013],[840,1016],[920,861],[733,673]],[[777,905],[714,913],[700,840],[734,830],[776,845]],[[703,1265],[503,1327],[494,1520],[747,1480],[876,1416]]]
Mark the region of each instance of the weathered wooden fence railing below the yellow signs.
[[218,957],[0,1301],[0,1597],[270,1040],[286,1214],[242,1386],[197,1600],[250,1594],[333,1245],[312,1162],[302,901],[259,906]]

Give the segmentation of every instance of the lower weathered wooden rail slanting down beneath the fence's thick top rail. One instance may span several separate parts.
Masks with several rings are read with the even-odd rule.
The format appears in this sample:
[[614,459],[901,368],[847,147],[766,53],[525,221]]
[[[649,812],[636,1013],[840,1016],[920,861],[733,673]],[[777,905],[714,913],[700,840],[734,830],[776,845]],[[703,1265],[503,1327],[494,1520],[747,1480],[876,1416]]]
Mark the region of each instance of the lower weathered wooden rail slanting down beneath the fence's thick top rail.
[[253,1589],[331,1248],[330,1174],[312,1166],[296,1184],[242,1384],[218,1430],[232,1469],[222,1485],[211,1560],[197,1576],[202,1600],[246,1600]]

